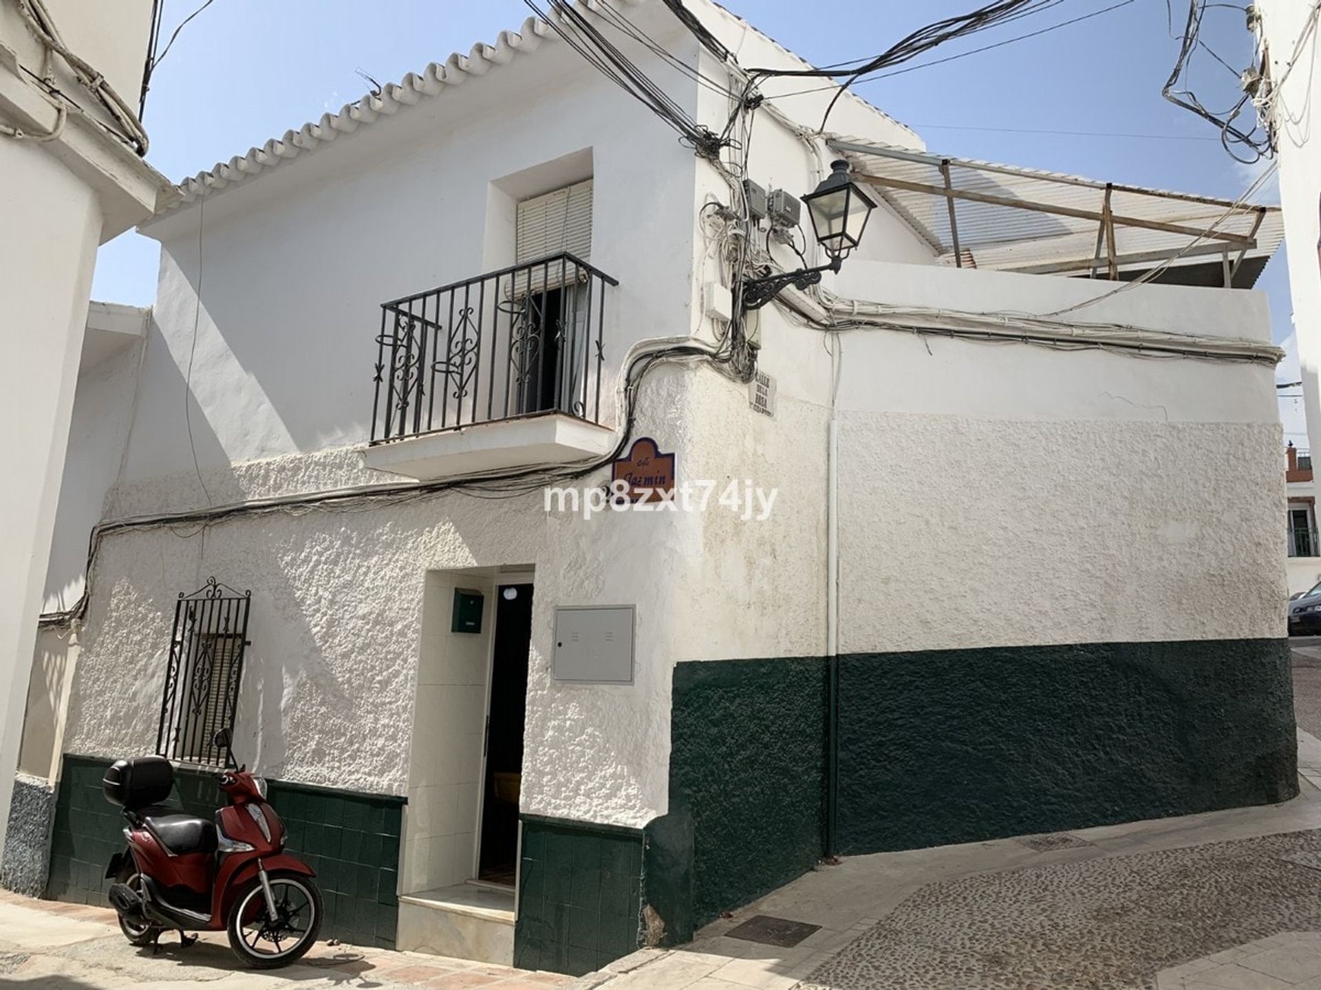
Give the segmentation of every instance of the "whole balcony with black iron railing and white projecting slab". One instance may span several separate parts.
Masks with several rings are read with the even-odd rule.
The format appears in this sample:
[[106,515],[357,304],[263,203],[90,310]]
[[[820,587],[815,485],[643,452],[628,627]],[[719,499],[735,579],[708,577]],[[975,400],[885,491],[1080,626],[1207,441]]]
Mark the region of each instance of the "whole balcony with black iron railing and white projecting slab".
[[608,453],[616,285],[561,253],[383,304],[367,466],[429,480]]

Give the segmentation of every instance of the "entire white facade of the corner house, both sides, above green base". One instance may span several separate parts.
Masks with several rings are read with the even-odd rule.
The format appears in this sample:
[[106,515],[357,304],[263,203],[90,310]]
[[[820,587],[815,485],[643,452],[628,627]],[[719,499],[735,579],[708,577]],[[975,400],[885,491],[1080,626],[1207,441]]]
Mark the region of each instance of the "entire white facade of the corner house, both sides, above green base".
[[[727,71],[664,5],[629,9],[676,57]],[[801,65],[701,11],[744,66]],[[61,500],[48,609],[85,587],[90,598],[62,738],[36,750],[151,751],[177,597],[214,576],[252,591],[239,758],[284,781],[407,797],[407,894],[469,879],[480,833],[493,634],[449,631],[456,587],[490,605],[502,576],[535,586],[519,810],[625,829],[672,810],[678,664],[1283,636],[1281,436],[1260,294],[954,269],[881,206],[824,292],[749,317],[771,414],[750,408],[745,383],[690,359],[642,379],[630,424],[620,384],[633,355],[727,333],[708,309],[728,292],[712,222],[728,177],[536,29],[411,79],[384,94],[388,108],[365,100],[199,176],[144,224],[161,268],[143,338],[79,381],[86,484]],[[831,94],[775,100],[777,87],[798,88],[766,84],[746,174],[801,195],[834,157],[804,131]],[[676,92],[713,129],[729,116],[720,94]],[[852,96],[832,128],[922,147]],[[654,438],[680,483],[773,490],[768,519],[712,506],[585,520],[548,512],[539,490],[219,517],[258,499],[407,484],[363,457],[380,304],[511,264],[514,203],[587,178],[590,264],[618,280],[602,309],[600,426]],[[769,238],[756,249],[758,264],[799,264]],[[812,317],[849,304],[927,323],[827,331]],[[1061,313],[1078,346],[941,323]],[[1083,346],[1102,326],[1259,354]],[[608,479],[598,467],[571,484]],[[181,512],[210,515],[161,517]],[[129,517],[99,541],[85,585],[91,524]],[[1207,601],[1217,607],[1186,605]],[[553,677],[555,609],[592,605],[635,607],[631,684]]]

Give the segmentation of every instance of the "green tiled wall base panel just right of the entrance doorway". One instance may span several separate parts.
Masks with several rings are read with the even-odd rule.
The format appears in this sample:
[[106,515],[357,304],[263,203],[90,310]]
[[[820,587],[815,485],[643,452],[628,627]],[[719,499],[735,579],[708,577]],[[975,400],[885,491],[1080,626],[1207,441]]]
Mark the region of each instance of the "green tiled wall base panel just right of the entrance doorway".
[[523,816],[514,965],[583,975],[638,948],[642,832]]

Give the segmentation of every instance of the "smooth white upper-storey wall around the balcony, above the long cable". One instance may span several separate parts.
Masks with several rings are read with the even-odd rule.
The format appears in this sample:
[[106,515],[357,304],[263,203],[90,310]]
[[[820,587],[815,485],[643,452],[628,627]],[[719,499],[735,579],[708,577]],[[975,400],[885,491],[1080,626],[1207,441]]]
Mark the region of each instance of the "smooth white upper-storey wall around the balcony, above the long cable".
[[[676,289],[691,268],[692,153],[577,58],[544,42],[152,224],[164,251],[156,312],[168,351],[148,354],[125,477],[192,469],[181,389],[157,384],[178,380],[190,356],[203,477],[231,462],[366,442],[380,304],[511,264],[513,244],[503,259],[486,244],[491,183],[565,156],[590,162],[592,261],[620,280],[606,306],[608,380],[630,345],[683,333]],[[585,178],[546,174],[546,187]],[[159,498],[205,502],[196,483]]]

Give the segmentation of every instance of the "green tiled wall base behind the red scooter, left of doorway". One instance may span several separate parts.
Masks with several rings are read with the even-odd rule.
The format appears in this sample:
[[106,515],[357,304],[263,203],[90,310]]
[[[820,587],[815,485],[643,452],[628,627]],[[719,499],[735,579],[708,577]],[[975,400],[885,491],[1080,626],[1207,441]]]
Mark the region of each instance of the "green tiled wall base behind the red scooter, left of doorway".
[[[55,799],[46,896],[107,904],[102,876],[124,847],[124,820],[100,792],[108,760],[66,755]],[[210,817],[223,796],[214,774],[177,768],[172,804]],[[325,900],[324,939],[392,949],[399,917],[402,797],[269,781],[271,807],[288,830],[287,847],[317,871]]]

